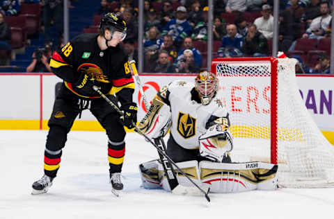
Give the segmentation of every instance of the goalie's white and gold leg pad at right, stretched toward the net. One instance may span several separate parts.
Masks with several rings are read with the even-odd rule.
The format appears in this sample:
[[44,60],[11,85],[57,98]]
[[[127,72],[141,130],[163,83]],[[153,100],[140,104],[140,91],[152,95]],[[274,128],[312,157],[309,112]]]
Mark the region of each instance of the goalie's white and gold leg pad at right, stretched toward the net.
[[260,161],[247,163],[214,163],[200,161],[200,179],[213,193],[238,193],[243,191],[274,190],[277,188],[275,164]]

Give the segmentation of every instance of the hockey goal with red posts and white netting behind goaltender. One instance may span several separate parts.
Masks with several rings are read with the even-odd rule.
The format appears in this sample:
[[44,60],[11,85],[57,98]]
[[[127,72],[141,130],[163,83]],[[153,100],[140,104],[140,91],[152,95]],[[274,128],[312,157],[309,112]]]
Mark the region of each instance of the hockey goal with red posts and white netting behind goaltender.
[[308,113],[296,83],[296,60],[217,58],[217,96],[228,107],[232,161],[278,164],[278,185],[334,186],[334,146]]

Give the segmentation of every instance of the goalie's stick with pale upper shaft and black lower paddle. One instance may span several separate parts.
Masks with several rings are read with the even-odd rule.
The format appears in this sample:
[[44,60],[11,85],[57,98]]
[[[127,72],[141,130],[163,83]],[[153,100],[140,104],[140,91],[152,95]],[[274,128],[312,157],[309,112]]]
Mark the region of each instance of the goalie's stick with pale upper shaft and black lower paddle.
[[[139,78],[138,71],[136,69],[136,61],[131,60],[129,62],[129,66],[130,66],[131,73],[134,74],[136,84],[139,87],[139,92],[141,92],[141,96],[143,98],[143,103],[145,105],[145,109],[148,110],[150,108],[150,104],[149,104],[148,100],[146,99],[145,93],[143,91],[143,87],[141,86],[141,80]],[[166,154],[166,145],[165,145],[164,139],[162,137],[159,137],[159,139],[156,139],[155,143]],[[159,152],[159,150],[158,150],[158,154],[159,154],[159,157],[160,157],[161,164],[164,168],[164,172],[166,173],[166,177],[168,179],[168,184],[170,186],[170,190],[172,191],[172,193],[177,193],[177,194],[180,194],[180,193],[182,193],[182,194],[184,194],[184,193],[195,194],[195,193],[197,193],[197,191],[190,191],[191,189],[187,186],[180,185],[179,182],[177,181],[177,177],[176,177],[176,173],[175,173],[175,170],[173,168],[173,165],[170,164],[168,159],[166,159],[166,157],[164,157],[164,155],[162,155]]]

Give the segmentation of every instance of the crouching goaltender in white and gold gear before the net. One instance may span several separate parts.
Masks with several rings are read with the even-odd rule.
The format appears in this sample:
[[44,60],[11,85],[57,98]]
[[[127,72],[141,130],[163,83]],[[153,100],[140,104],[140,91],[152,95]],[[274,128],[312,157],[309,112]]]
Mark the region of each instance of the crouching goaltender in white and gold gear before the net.
[[[216,96],[218,79],[203,71],[195,83],[175,80],[161,88],[148,113],[138,124],[150,139],[164,137],[168,130],[166,154],[199,186],[209,186],[213,193],[236,193],[277,188],[276,164],[260,161],[233,163],[233,137],[228,111]],[[159,161],[139,165],[144,188],[161,186],[170,191]],[[178,182],[192,186],[179,174]]]

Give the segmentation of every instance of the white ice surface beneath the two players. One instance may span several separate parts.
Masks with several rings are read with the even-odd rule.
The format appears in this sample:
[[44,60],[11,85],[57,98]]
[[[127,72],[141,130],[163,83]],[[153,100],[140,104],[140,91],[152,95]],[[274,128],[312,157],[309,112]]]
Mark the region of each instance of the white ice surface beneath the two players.
[[[278,189],[203,197],[141,188],[138,164],[157,152],[128,133],[117,198],[108,183],[106,134],[70,132],[48,193],[31,195],[42,176],[46,131],[0,130],[0,218],[334,218],[334,189]],[[331,207],[332,206],[332,207]]]

